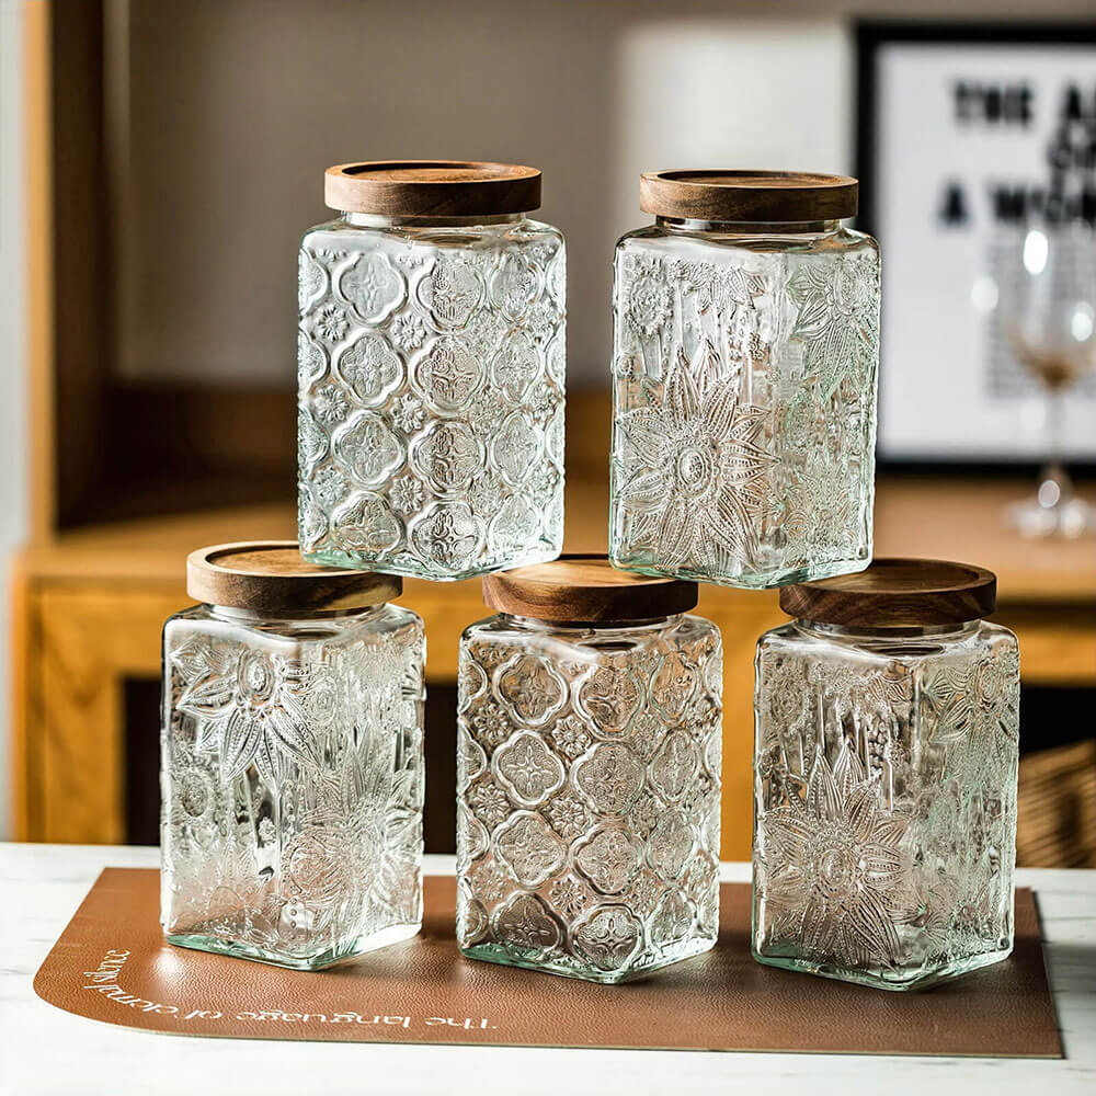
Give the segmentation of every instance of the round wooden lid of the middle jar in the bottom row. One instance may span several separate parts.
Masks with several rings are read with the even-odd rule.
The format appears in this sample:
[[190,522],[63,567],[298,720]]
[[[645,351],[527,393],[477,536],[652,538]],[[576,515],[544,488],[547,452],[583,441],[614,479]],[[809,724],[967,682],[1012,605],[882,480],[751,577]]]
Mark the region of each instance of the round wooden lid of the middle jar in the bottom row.
[[695,582],[620,571],[604,556],[560,556],[483,580],[483,601],[491,608],[557,624],[673,616],[695,608],[696,598]]

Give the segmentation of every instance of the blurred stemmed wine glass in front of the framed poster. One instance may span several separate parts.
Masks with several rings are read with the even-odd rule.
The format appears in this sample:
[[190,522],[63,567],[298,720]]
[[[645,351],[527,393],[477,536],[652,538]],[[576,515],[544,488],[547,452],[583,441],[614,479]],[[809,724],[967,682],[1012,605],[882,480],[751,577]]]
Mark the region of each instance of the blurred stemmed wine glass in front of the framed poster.
[[1036,492],[1006,516],[1028,537],[1096,530],[1096,507],[1078,498],[1062,459],[1065,399],[1096,368],[1096,226],[1029,222],[1002,258],[998,326],[1008,349],[1046,393],[1046,464]]

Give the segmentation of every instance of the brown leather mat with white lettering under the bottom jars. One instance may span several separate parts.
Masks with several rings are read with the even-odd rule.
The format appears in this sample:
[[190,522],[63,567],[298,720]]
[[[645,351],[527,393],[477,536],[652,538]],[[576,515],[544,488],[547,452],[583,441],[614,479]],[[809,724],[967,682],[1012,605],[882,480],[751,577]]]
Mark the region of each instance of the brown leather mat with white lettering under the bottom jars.
[[744,883],[722,887],[715,950],[620,986],[461,958],[454,893],[450,877],[426,877],[418,937],[298,973],[171,947],[158,872],[106,868],[34,989],[107,1024],[247,1039],[1062,1057],[1029,890],[1007,962],[906,994],[755,963]]

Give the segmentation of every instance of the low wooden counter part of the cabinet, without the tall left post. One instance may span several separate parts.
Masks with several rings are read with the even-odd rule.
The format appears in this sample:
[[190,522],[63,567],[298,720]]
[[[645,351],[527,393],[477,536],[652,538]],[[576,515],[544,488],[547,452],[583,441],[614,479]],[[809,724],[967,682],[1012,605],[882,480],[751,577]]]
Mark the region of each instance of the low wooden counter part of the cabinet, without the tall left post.
[[[604,400],[604,398],[601,398]],[[580,399],[574,429],[601,420]],[[572,431],[573,433],[573,431]],[[575,442],[576,448],[578,442]],[[579,457],[568,486],[570,551],[604,550],[607,495]],[[1092,541],[1025,544],[1001,524],[1018,483],[883,480],[879,555],[951,557],[998,574],[996,619],[1019,636],[1029,684],[1096,685],[1096,552]],[[241,506],[73,530],[27,547],[14,574],[16,818],[35,841],[125,840],[123,688],[160,673],[160,626],[187,603],[186,552],[224,540],[293,536],[286,504]],[[426,621],[427,688],[452,683],[457,639],[488,615],[478,582],[408,580],[402,603]],[[753,652],[786,619],[775,591],[704,586],[698,612],[723,635],[723,856],[751,842]],[[1025,726],[1028,746],[1041,729]],[[129,728],[156,737],[158,728]],[[429,784],[429,781],[427,781]],[[431,795],[452,796],[435,784]]]

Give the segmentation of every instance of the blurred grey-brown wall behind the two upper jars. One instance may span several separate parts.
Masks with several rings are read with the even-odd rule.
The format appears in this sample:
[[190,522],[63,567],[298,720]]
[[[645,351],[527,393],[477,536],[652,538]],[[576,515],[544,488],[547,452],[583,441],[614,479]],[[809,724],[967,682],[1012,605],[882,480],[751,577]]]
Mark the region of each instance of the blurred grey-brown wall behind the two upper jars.
[[[351,159],[502,159],[545,172],[572,241],[572,384],[601,384],[614,241],[638,174],[689,163],[849,171],[846,14],[834,2],[163,0],[107,7],[107,136],[125,241],[128,377],[293,380],[292,250]],[[1048,3],[870,13],[1091,14]],[[858,14],[869,14],[863,7]]]

